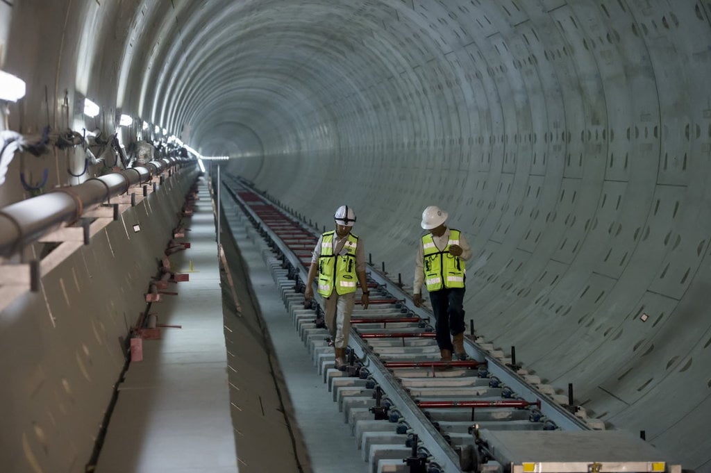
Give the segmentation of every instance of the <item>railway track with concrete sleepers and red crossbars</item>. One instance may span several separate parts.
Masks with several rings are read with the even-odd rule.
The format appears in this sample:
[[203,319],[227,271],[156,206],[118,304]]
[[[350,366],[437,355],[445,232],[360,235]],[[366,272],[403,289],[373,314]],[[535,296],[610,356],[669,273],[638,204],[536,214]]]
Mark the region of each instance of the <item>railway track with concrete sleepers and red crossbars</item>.
[[437,361],[432,314],[372,265],[370,307],[356,302],[347,363],[335,369],[321,297],[310,307],[303,297],[319,233],[242,181],[223,183],[272,248],[264,261],[370,471],[680,472],[643,440],[602,430],[572,393],[557,395],[473,329],[466,359]]

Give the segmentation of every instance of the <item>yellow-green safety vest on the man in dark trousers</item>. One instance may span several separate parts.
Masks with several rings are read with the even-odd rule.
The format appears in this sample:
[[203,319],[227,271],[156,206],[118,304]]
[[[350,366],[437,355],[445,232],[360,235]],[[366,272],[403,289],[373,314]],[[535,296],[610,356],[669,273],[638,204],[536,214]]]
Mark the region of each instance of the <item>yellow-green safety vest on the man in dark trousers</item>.
[[422,269],[424,283],[429,292],[439,291],[442,287],[464,287],[465,262],[459,256],[449,254],[449,245],[459,245],[459,230],[449,229],[449,241],[444,250],[434,245],[432,233],[422,237],[424,255]]

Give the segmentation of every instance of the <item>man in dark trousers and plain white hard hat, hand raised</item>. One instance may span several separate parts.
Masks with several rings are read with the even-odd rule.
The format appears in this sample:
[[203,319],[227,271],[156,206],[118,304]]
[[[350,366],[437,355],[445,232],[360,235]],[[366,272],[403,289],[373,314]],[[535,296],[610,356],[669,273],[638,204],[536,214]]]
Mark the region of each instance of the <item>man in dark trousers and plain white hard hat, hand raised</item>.
[[422,212],[420,225],[429,233],[417,245],[413,283],[413,302],[417,307],[422,304],[422,283],[427,286],[442,361],[451,361],[452,351],[458,358],[466,358],[465,262],[471,257],[471,247],[464,234],[445,225],[447,216],[447,212],[437,206],[429,206]]

